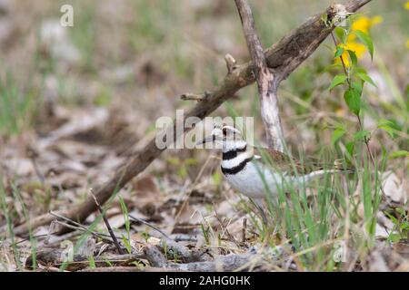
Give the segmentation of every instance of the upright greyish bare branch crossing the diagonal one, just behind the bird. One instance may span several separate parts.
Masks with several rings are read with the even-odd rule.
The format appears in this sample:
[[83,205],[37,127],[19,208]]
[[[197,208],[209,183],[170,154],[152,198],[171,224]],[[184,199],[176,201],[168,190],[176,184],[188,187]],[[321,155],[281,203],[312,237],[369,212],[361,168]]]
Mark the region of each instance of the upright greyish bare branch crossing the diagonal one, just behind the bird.
[[277,87],[274,73],[270,71],[265,60],[263,47],[254,26],[250,5],[246,0],[234,0],[243,24],[245,41],[254,63],[255,81],[260,94],[261,115],[267,142],[270,148],[284,151],[284,135],[277,101]]

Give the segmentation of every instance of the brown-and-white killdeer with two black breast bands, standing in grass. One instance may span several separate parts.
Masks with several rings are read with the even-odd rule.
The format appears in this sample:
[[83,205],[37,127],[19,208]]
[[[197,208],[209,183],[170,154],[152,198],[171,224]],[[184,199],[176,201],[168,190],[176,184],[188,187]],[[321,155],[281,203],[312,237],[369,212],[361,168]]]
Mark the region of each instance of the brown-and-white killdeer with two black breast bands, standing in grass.
[[[241,131],[228,125],[214,125],[212,134],[197,144],[206,142],[222,145],[221,168],[225,179],[234,189],[248,198],[254,198],[257,205],[260,205],[266,193],[277,195],[278,190],[284,189],[285,185],[298,188],[325,173],[344,170],[324,169],[317,165],[307,167],[280,151],[257,150],[247,144]],[[264,160],[270,160],[272,166]]]

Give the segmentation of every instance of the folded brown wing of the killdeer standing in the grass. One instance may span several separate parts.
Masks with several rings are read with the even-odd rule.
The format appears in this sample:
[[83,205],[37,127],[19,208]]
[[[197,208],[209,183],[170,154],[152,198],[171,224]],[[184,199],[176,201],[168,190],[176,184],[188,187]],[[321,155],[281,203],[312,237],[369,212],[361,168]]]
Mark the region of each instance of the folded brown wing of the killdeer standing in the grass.
[[285,155],[283,152],[268,148],[254,148],[254,154],[260,155],[262,158],[271,162],[275,169],[287,172],[290,175],[294,175],[295,171],[298,174],[308,174],[314,170],[323,169],[323,166],[317,162],[307,161],[305,164],[302,164],[298,160],[294,160],[294,158]]

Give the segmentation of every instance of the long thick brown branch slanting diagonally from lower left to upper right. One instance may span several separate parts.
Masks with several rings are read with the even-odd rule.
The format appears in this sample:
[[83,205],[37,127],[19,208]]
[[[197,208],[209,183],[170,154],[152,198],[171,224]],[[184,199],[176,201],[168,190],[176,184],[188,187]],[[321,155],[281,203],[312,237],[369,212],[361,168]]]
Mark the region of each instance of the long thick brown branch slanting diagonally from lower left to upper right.
[[[347,12],[354,13],[370,1],[371,0],[350,0],[344,7]],[[332,7],[329,7],[325,9],[324,12],[315,14],[304,24],[294,29],[290,34],[284,36],[280,41],[274,43],[273,46],[264,51],[268,67],[274,69],[275,73],[280,73],[282,79],[289,73],[292,73],[300,63],[303,63],[309,55],[314,53],[314,50],[334,28],[327,27],[324,24],[322,21],[323,14],[326,15],[327,19],[331,20],[334,18],[336,12],[334,12]],[[194,108],[187,111],[184,119],[189,117],[204,119],[224,101],[233,97],[235,92],[253,83],[255,81],[253,72],[254,63],[244,63],[243,65],[237,66],[231,73],[227,73],[224,80],[220,82],[214,90],[206,94],[204,100],[199,101]],[[181,124],[174,122],[174,125],[171,126],[169,130],[174,130],[176,134],[181,134],[182,132],[175,130],[176,126],[180,125]],[[185,131],[188,130],[189,129],[185,129]],[[165,150],[156,147],[155,139],[151,140],[143,150],[136,153],[135,156],[121,168],[115,170],[114,177],[100,188],[95,189],[95,197],[101,205],[117,190],[122,189],[126,183],[145,170],[145,168]],[[88,197],[82,204],[67,210],[62,210],[59,213],[65,217],[83,221],[96,209],[94,198]],[[30,219],[25,224],[15,227],[15,235],[24,235],[28,232],[28,228],[49,224],[53,219],[54,218],[48,214]],[[3,231],[0,232],[0,234],[5,233]]]

